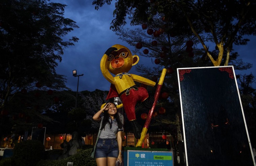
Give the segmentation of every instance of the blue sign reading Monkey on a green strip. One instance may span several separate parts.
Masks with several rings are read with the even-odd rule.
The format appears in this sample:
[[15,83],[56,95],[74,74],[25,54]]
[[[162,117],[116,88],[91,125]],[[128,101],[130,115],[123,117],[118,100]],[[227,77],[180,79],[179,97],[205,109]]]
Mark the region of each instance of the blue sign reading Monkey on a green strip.
[[127,166],[173,166],[172,152],[127,151]]

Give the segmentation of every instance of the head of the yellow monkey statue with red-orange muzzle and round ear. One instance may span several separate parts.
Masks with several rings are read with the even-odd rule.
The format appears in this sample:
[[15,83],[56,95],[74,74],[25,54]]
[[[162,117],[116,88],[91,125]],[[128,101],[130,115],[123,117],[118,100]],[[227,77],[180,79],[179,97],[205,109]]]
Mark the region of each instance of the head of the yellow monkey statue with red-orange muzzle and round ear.
[[138,63],[139,57],[137,55],[132,56],[131,51],[127,47],[119,44],[112,47],[117,48],[117,50],[112,51],[108,55],[107,69],[109,72],[115,75],[128,72],[133,65]]

